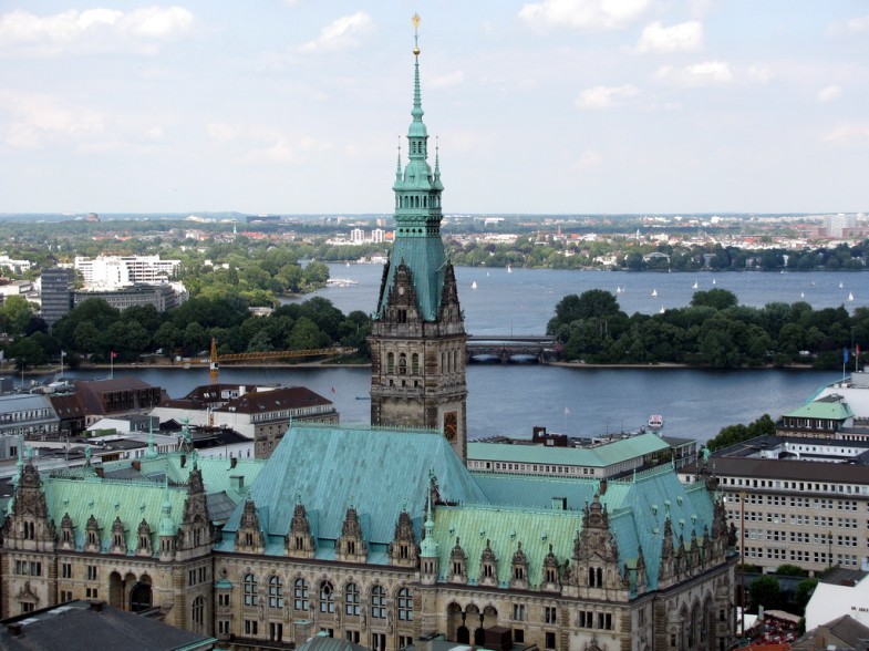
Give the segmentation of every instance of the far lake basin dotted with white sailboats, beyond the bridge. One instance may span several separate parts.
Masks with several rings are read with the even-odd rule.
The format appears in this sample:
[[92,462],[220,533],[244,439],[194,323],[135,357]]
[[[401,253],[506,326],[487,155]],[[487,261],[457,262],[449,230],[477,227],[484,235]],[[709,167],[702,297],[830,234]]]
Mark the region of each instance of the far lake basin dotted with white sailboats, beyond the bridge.
[[[328,298],[344,313],[374,309],[383,271],[380,265],[330,265],[329,271],[332,278],[345,278],[358,285],[329,287],[315,296]],[[469,334],[486,335],[544,334],[558,301],[589,289],[611,291],[628,314],[653,314],[662,307],[682,308],[691,303],[695,291],[710,289],[726,289],[736,294],[739,303],[758,308],[769,302],[806,301],[815,309],[845,306],[850,311],[869,304],[869,276],[855,271],[630,273],[513,269],[507,272],[504,268],[456,267],[456,281],[466,330]],[[849,294],[852,301],[848,300]]]

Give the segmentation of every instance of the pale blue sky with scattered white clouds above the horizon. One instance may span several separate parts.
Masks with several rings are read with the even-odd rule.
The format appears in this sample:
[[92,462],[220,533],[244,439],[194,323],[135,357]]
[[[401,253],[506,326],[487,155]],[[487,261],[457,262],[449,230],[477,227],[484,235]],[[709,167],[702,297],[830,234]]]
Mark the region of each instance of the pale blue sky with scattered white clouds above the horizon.
[[869,209],[862,1],[0,0],[0,213],[389,213],[415,11],[446,213]]

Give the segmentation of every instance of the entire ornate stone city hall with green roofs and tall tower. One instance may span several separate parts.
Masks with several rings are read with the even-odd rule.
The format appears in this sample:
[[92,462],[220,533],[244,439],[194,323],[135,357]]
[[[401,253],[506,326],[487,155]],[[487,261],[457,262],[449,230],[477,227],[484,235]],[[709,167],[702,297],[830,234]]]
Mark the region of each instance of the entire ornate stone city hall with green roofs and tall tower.
[[[40,475],[19,456],[2,617],[80,598],[234,649],[311,636],[558,651],[724,650],[736,556],[716,482],[474,474],[465,331],[414,48],[410,162],[374,314],[372,427],[293,422],[268,459],[195,451]],[[21,454],[21,453],[20,453]],[[496,642],[496,643],[495,643]]]

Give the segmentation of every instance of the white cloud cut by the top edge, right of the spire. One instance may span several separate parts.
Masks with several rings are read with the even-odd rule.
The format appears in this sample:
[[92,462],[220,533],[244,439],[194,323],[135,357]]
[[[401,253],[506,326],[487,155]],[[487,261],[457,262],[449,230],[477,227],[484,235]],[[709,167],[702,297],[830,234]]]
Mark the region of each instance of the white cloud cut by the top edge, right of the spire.
[[524,6],[519,18],[534,29],[550,27],[617,30],[637,21],[649,0],[542,0]]

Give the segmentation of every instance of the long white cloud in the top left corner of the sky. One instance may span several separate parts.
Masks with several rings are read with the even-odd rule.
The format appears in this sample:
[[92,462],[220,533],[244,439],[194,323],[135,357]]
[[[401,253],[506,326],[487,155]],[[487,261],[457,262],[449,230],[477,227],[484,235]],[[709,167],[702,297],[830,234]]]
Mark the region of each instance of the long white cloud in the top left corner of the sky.
[[130,12],[112,9],[69,10],[37,16],[15,10],[0,16],[0,52],[18,49],[37,54],[153,50],[159,41],[182,35],[194,17],[182,7],[145,7]]

